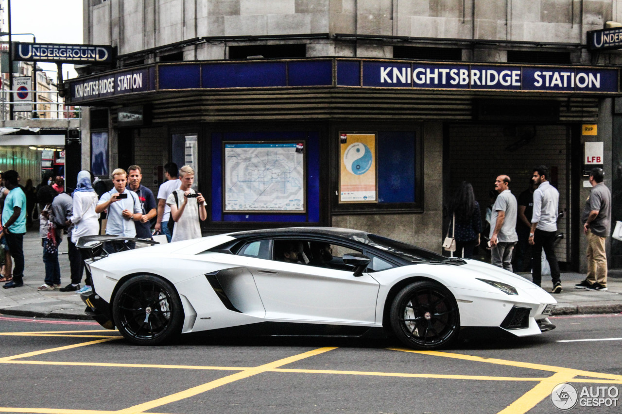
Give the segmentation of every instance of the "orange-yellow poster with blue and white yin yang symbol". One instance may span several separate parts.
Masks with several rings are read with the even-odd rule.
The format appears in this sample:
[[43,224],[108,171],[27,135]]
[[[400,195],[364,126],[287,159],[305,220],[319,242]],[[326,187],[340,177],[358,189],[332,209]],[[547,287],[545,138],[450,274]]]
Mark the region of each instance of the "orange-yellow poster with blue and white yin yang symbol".
[[376,203],[376,134],[340,133],[340,203]]

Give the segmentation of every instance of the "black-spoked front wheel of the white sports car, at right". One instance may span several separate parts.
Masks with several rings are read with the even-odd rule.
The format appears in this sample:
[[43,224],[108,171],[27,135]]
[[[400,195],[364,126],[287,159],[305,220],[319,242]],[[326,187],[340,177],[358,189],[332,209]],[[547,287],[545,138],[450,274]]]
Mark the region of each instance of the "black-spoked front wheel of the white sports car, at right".
[[402,343],[415,349],[437,349],[452,343],[460,330],[458,305],[447,288],[421,280],[393,299],[391,328]]

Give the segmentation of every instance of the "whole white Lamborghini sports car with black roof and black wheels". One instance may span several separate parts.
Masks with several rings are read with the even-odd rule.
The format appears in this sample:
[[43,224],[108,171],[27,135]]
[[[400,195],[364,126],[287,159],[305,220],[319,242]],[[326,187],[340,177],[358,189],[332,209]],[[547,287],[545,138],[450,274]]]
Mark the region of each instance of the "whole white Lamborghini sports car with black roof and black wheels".
[[522,337],[553,329],[557,303],[519,275],[364,231],[283,228],[157,245],[81,237],[102,326],[134,344],[243,328],[320,335],[383,331],[414,349],[469,331]]

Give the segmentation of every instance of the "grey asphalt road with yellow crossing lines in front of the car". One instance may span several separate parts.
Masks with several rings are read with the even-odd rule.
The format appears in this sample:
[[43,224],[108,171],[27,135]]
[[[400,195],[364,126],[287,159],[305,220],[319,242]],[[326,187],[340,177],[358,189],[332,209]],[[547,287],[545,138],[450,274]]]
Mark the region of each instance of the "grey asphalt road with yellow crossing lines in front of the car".
[[[622,315],[552,321],[535,338],[414,352],[386,340],[208,334],[138,347],[91,322],[0,315],[0,412],[554,413],[551,392],[569,382],[568,412],[620,413]],[[582,407],[599,403],[581,399],[590,390],[610,400]]]

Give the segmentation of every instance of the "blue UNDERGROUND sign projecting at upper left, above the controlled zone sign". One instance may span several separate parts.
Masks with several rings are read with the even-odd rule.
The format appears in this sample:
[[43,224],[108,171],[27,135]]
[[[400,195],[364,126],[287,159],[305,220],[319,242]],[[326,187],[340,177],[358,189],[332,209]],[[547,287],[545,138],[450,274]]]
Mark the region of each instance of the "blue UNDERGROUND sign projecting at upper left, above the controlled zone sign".
[[102,65],[113,62],[114,48],[105,45],[68,45],[19,43],[13,48],[13,60],[22,62],[81,63]]

